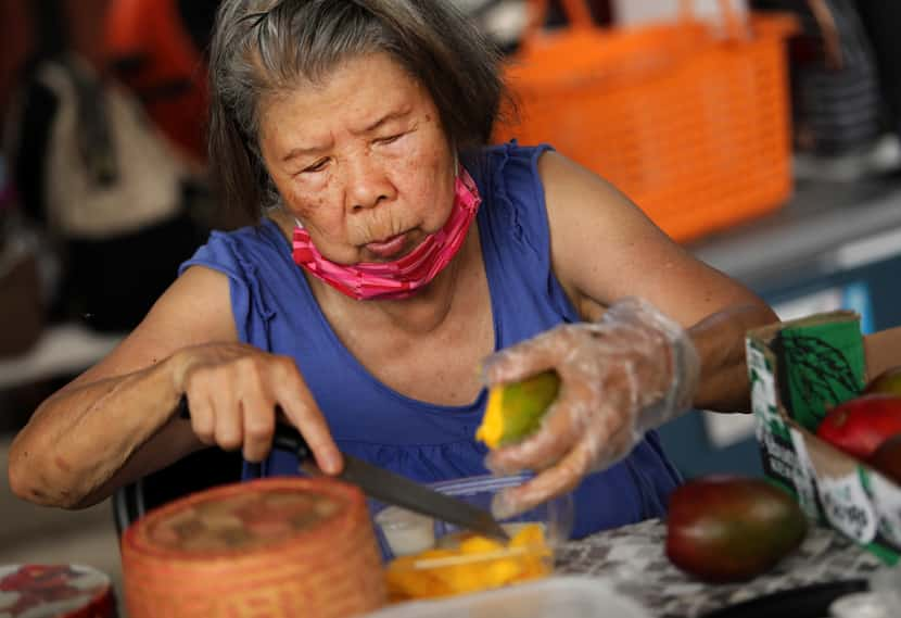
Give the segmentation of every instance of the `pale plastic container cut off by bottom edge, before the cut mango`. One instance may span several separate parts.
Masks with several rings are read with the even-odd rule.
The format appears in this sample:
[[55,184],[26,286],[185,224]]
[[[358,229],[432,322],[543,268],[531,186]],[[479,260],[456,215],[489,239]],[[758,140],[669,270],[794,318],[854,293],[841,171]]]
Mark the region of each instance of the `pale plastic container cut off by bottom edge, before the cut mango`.
[[511,588],[439,601],[403,603],[365,618],[651,618],[608,581],[550,577]]

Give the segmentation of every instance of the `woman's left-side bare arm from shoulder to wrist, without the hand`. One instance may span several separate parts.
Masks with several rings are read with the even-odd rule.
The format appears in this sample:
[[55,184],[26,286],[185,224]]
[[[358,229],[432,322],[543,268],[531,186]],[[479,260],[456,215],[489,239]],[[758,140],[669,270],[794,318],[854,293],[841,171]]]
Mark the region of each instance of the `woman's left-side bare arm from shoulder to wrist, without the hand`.
[[181,396],[177,351],[236,341],[228,281],[190,268],[109,356],[45,401],[10,451],[10,484],[40,504],[81,507],[203,443],[170,420]]

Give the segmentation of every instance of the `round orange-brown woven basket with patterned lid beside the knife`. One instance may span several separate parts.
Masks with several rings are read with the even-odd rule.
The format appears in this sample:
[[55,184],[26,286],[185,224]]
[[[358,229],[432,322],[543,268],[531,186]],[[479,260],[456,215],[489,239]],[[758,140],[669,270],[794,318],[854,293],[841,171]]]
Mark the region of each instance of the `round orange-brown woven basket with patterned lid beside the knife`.
[[366,500],[328,478],[169,503],[126,530],[122,563],[130,618],[343,618],[385,601]]

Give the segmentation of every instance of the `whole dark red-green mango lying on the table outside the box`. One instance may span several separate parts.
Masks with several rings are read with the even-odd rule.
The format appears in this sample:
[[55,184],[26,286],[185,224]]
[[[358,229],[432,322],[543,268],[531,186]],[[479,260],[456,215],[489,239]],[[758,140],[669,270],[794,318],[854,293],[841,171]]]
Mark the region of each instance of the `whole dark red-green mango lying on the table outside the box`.
[[705,581],[744,581],[796,550],[807,529],[795,500],[763,479],[700,477],[670,497],[667,556]]

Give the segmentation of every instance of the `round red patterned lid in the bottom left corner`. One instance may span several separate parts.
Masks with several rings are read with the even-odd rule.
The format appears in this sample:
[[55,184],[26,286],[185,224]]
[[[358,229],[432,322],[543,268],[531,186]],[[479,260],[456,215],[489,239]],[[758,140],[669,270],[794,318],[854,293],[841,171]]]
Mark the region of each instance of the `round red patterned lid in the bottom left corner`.
[[110,578],[84,565],[0,565],[2,618],[113,618]]

